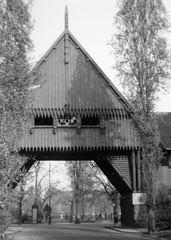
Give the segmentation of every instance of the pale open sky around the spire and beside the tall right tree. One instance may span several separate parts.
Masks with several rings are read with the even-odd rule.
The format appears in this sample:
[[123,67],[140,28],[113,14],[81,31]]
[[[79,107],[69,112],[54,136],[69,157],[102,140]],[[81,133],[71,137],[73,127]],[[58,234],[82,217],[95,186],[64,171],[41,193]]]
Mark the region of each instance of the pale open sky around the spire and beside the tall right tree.
[[[163,3],[171,15],[171,0]],[[65,5],[69,11],[69,30],[122,92],[112,69],[111,47],[107,45],[114,32],[116,0],[34,0],[34,61],[38,61],[63,32]],[[171,112],[171,94],[162,96],[161,100],[157,110]]]

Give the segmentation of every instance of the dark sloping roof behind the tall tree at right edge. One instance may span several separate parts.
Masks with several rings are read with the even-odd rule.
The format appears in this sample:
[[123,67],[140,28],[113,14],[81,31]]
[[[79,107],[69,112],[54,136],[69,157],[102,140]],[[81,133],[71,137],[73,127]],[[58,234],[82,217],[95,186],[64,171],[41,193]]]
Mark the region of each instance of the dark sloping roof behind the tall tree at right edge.
[[171,112],[158,113],[158,116],[161,140],[166,148],[171,148]]

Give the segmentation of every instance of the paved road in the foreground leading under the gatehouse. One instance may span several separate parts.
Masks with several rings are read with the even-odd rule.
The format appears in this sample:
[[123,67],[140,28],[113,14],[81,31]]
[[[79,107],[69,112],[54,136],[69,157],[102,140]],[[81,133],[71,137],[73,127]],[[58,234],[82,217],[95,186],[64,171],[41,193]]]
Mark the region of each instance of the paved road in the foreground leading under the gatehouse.
[[52,225],[21,225],[22,231],[14,240],[114,240],[148,239],[140,233],[122,233],[109,229],[110,222],[102,223],[56,223]]

